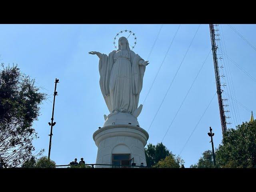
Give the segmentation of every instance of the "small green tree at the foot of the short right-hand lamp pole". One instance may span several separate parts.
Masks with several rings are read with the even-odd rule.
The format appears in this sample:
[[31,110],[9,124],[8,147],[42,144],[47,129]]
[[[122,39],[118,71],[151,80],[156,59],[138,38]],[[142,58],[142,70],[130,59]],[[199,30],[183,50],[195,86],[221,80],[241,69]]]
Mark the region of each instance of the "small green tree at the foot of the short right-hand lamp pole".
[[198,160],[198,163],[190,166],[190,168],[214,168],[214,167],[215,166],[214,166],[211,150],[207,150],[203,152],[202,157],[200,157],[200,159]]

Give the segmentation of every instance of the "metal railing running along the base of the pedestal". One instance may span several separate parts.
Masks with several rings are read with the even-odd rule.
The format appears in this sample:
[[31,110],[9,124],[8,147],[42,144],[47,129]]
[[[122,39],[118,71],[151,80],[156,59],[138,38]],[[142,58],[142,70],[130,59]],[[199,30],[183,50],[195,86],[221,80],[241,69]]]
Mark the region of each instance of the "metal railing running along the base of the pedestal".
[[84,164],[84,167],[78,165],[56,165],[55,168],[148,168],[147,166],[137,165],[112,165],[112,164]]

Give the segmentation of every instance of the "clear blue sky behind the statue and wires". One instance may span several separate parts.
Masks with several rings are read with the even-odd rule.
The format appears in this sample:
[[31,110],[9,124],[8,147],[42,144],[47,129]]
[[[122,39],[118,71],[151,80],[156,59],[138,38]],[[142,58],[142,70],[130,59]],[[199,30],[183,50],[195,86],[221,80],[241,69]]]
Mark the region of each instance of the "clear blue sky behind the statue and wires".
[[[138,117],[140,126],[145,130],[148,130],[198,26],[180,26]],[[256,45],[256,25],[232,26],[252,45]],[[100,91],[98,57],[88,52],[108,54],[114,50],[116,33],[127,29],[132,30],[137,37],[134,52],[146,60],[160,27],[161,24],[1,24],[1,62],[18,64],[22,72],[36,79],[36,85],[42,87],[42,92],[50,95],[41,105],[38,121],[34,122],[40,137],[34,141],[36,150],[44,148],[44,155],[48,155],[48,122],[52,113],[54,80],[58,78],[60,83],[57,85],[51,159],[59,165],[81,157],[86,163],[95,163],[97,147],[92,134],[104,124],[103,115],[109,112]],[[144,101],[177,28],[178,24],[164,24],[162,27],[148,59],[150,64],[146,67],[139,104]],[[223,24],[219,28],[220,46],[225,53],[255,78],[255,50],[230,26]],[[133,44],[132,39],[128,40]],[[161,142],[210,49],[209,25],[202,24],[148,132],[148,143]],[[219,65],[224,65],[224,69],[220,73],[225,76],[222,82],[227,84],[223,95],[230,95],[230,88],[232,97],[236,97],[249,110],[256,111],[255,82],[225,56],[222,57],[224,62],[220,60]],[[180,154],[215,92],[211,52],[163,140],[163,144],[174,154]],[[230,99],[227,108],[230,113],[227,115],[231,116],[228,121],[232,122],[228,128],[234,127],[236,122],[240,124],[248,121],[250,111],[236,102],[232,103],[228,95],[227,98]],[[195,164],[202,152],[211,149],[210,137],[207,135],[209,126],[215,133],[214,146],[218,147],[222,132],[217,96],[180,154],[185,167]]]

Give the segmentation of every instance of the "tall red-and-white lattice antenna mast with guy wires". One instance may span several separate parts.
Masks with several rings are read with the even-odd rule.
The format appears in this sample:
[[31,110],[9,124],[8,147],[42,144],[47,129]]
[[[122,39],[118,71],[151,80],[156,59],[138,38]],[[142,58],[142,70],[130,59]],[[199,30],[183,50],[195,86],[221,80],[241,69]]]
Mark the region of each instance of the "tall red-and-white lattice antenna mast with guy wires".
[[215,81],[216,81],[216,88],[217,88],[217,94],[218,94],[218,103],[219,103],[219,110],[220,110],[220,122],[222,127],[222,135],[224,135],[227,131],[226,127],[226,116],[224,111],[224,105],[222,100],[222,90],[220,88],[220,74],[219,74],[219,67],[218,67],[218,58],[217,58],[217,46],[215,43],[215,30],[214,25],[210,24],[210,37],[212,42],[212,56],[213,56],[213,64],[214,64],[214,72],[215,72]]

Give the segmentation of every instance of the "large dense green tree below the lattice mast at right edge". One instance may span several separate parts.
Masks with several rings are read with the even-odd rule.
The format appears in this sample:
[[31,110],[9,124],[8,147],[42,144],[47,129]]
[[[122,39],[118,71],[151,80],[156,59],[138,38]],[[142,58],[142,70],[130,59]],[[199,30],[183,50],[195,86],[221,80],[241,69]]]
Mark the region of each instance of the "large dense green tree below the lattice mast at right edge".
[[216,151],[223,168],[256,168],[256,120],[227,130]]

